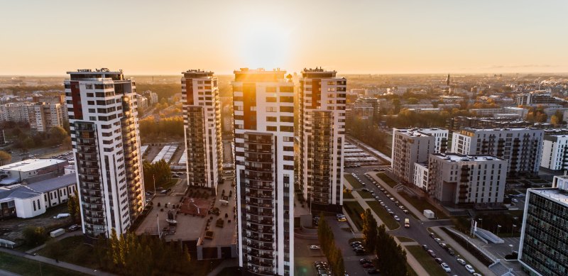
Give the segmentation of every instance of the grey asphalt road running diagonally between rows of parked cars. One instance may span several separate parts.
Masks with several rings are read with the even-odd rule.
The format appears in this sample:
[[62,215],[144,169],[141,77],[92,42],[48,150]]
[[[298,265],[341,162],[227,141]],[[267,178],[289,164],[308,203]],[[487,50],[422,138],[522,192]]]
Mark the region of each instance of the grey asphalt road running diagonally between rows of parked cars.
[[[386,166],[379,166],[382,168],[385,168]],[[427,231],[428,227],[434,227],[434,226],[450,226],[452,225],[451,221],[449,220],[435,220],[435,221],[420,221],[415,219],[413,216],[411,216],[410,214],[404,214],[403,211],[398,208],[398,206],[395,205],[395,202],[392,202],[390,199],[388,199],[388,197],[386,197],[385,194],[383,194],[383,192],[381,192],[378,187],[376,187],[370,180],[368,180],[365,176],[364,173],[365,172],[369,172],[369,175],[371,175],[371,172],[373,169],[378,168],[378,167],[357,167],[357,168],[349,168],[346,169],[345,172],[346,173],[354,173],[355,175],[357,175],[359,177],[359,179],[361,180],[361,182],[363,182],[365,184],[366,189],[368,189],[371,192],[374,192],[376,196],[379,197],[379,199],[381,199],[386,206],[391,209],[391,211],[393,211],[395,213],[396,216],[398,216],[400,218],[400,228],[393,230],[393,231],[389,231],[389,233],[391,233],[391,235],[393,236],[405,236],[408,238],[412,238],[414,241],[416,241],[418,244],[422,245],[428,245],[428,247],[432,250],[434,250],[434,252],[437,255],[437,258],[442,258],[442,260],[444,261],[444,263],[447,263],[447,265],[449,265],[449,267],[452,269],[451,274],[457,274],[457,275],[469,275],[470,273],[467,272],[467,270],[465,270],[464,266],[460,265],[459,263],[457,263],[457,258],[458,256],[452,256],[449,255],[449,253],[444,250],[444,248],[440,247],[438,245],[438,243],[436,243],[436,241],[434,241],[433,238],[430,238],[430,233]],[[376,172],[373,172],[376,173]],[[386,186],[386,185],[385,185]],[[386,187],[384,187],[386,188]],[[359,188],[359,189],[355,189],[355,190],[361,190],[363,188]],[[389,193],[392,195],[395,195],[395,193]],[[376,199],[366,199],[366,201],[368,202],[372,202],[373,200]],[[408,208],[407,208],[408,209]],[[404,228],[403,227],[403,223],[404,223],[404,219],[409,219],[410,220],[410,228]],[[443,243],[444,241],[442,241]],[[467,262],[467,260],[466,260]],[[469,262],[468,262],[469,263]]]

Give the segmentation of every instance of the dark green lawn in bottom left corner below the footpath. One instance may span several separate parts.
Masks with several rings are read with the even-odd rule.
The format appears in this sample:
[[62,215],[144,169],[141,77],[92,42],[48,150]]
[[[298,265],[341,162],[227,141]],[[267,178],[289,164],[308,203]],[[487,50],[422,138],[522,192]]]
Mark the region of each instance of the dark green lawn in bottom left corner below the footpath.
[[[75,270],[67,270],[65,268],[47,265],[35,260],[28,260],[23,257],[11,255],[9,253],[0,252],[0,269],[14,272],[20,275],[85,275]],[[40,273],[41,271],[41,273]]]

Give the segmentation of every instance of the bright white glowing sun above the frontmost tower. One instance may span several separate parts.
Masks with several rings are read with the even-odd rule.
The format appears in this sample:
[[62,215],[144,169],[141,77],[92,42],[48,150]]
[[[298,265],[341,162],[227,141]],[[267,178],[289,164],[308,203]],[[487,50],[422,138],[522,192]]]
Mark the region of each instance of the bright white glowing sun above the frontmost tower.
[[288,64],[290,31],[287,28],[266,22],[248,25],[241,30],[239,38],[241,62],[244,65],[270,70]]

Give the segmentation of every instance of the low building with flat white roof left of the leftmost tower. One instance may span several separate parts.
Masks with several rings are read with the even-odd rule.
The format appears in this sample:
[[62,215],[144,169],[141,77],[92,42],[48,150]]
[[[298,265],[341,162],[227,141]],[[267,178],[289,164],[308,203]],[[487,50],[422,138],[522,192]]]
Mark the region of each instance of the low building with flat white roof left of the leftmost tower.
[[0,186],[36,182],[63,175],[67,160],[28,159],[0,167]]

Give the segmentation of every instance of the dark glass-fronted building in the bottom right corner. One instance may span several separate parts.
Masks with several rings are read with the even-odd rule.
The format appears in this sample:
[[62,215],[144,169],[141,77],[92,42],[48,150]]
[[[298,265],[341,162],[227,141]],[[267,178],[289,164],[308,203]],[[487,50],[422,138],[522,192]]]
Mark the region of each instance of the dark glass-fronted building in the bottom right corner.
[[518,260],[529,275],[568,275],[568,177],[528,189]]

